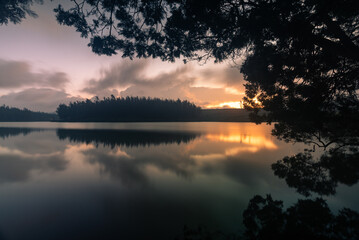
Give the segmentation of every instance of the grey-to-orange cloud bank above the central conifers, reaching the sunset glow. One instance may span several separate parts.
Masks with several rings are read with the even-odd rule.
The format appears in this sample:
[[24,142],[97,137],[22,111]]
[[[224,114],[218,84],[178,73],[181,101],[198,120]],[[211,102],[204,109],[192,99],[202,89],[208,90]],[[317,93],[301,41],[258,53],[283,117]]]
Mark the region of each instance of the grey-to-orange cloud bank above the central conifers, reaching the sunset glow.
[[[102,69],[101,76],[87,81],[82,91],[100,98],[111,94],[121,97],[180,98],[200,106],[240,101],[243,97],[237,90],[243,89],[238,69],[199,70],[192,65],[184,65],[149,77],[150,67],[144,60],[124,61],[109,69]],[[201,82],[209,82],[212,87],[201,86]]]

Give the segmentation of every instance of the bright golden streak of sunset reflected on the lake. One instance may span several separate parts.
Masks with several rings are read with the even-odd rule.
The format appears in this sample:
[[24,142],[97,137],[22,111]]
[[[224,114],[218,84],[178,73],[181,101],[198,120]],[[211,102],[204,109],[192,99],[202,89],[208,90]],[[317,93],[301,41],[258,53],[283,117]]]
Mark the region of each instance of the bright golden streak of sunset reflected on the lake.
[[277,149],[277,145],[275,145],[270,139],[265,138],[264,136],[249,136],[244,134],[208,134],[206,136],[207,139],[212,141],[220,141],[220,142],[237,142],[248,144],[252,147],[266,148],[266,149]]

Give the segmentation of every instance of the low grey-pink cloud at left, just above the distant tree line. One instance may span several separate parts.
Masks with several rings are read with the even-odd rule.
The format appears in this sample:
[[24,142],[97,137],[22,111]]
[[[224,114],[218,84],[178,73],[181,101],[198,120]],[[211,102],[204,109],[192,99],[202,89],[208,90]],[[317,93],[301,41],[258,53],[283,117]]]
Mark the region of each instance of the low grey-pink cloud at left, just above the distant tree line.
[[0,104],[28,108],[33,111],[55,112],[59,104],[77,100],[82,100],[82,98],[71,96],[64,91],[51,88],[29,88],[1,96]]

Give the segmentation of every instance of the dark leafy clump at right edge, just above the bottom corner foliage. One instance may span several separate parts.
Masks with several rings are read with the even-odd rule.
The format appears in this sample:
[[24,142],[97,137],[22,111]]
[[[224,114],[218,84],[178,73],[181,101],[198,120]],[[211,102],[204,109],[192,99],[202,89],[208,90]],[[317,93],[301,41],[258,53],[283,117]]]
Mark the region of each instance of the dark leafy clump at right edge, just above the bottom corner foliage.
[[359,179],[359,153],[331,150],[315,159],[306,151],[285,157],[272,165],[274,174],[284,178],[290,187],[309,196],[335,194],[338,183],[353,185]]

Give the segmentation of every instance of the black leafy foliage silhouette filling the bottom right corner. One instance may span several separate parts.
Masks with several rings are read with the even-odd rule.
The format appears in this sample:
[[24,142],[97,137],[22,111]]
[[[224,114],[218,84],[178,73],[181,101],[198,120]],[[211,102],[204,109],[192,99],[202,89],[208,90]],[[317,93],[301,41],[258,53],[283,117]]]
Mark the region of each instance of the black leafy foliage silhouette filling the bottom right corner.
[[333,214],[323,199],[283,202],[255,196],[243,213],[247,239],[358,239],[359,214],[343,208]]

